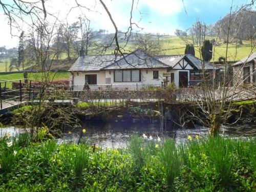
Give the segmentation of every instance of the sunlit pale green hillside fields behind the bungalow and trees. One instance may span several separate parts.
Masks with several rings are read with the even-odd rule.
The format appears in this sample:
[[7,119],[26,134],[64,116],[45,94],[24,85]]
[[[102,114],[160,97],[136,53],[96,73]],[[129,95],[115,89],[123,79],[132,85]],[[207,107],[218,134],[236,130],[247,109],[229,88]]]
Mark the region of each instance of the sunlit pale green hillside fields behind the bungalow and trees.
[[[109,36],[111,36],[111,34],[108,34]],[[106,34],[103,34],[101,36],[97,37],[97,41],[103,41],[102,39],[106,38]],[[157,36],[154,36],[155,39],[157,39]],[[126,42],[121,40],[122,37],[120,37],[120,46],[123,47]],[[126,45],[125,47],[125,52],[131,52],[133,51],[136,46],[135,46],[135,41],[133,40],[135,38],[131,38],[131,41],[129,42],[129,44]],[[160,36],[159,37],[160,40],[160,46],[161,46],[161,54],[162,55],[179,55],[179,54],[184,54],[185,51],[185,46],[186,46],[186,42],[183,41],[182,39],[180,39],[178,36]],[[188,40],[188,39],[187,39]],[[195,51],[196,51],[196,56],[200,58],[200,54],[199,54],[199,50],[198,47],[195,46]],[[214,51],[214,59],[217,61],[219,57],[224,56],[226,54],[226,45],[225,44],[220,44],[218,46],[216,46],[215,51]],[[106,54],[111,54],[114,51],[114,46],[109,49],[107,52],[105,52]],[[256,49],[254,48],[252,52],[255,52]],[[231,42],[229,47],[228,47],[228,60],[239,60],[242,59],[246,56],[248,56],[248,54],[251,52],[251,42],[250,41],[243,41],[243,45],[238,45],[235,42]],[[96,52],[89,52],[89,54],[96,54]],[[71,62],[67,62],[67,54],[63,53],[61,55],[61,59],[65,59],[65,65],[54,65],[53,69],[59,70],[59,69],[69,69],[69,67],[72,65],[73,60],[72,59]],[[7,61],[7,62],[6,62]],[[64,60],[63,60],[64,62]],[[9,65],[10,65],[10,58],[7,59],[0,59],[0,72],[5,72],[6,69],[7,71],[9,71]],[[16,70],[17,71],[17,70]]]

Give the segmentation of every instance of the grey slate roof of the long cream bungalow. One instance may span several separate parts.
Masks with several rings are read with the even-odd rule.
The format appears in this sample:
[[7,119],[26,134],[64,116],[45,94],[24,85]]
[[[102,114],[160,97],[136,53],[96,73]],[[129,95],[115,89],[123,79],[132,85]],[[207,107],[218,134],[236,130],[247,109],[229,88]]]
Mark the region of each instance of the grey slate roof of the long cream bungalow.
[[[201,60],[190,54],[151,56],[143,50],[137,49],[130,54],[124,54],[124,56],[94,55],[78,57],[69,71],[172,68],[183,58],[188,59],[198,70],[202,69]],[[206,70],[211,70],[214,69],[214,66],[210,63],[205,63],[205,68]]]

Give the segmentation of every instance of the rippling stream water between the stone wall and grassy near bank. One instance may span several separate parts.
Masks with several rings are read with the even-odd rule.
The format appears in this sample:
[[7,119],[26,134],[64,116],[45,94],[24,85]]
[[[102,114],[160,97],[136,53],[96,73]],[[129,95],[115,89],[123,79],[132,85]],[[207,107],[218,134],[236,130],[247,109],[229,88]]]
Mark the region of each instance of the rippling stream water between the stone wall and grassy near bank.
[[[86,129],[85,134],[81,134],[81,130]],[[252,132],[254,130],[254,132]],[[223,126],[221,128],[221,135],[228,137],[247,137],[256,136],[256,124],[254,125],[233,125]],[[15,135],[22,132],[20,129],[15,127],[0,128],[0,137],[4,134],[10,133]],[[122,148],[126,147],[129,143],[129,139],[132,135],[137,134],[142,136],[145,134],[147,137],[152,136],[154,140],[157,140],[158,136],[161,137],[160,124],[155,123],[135,123],[135,122],[111,122],[111,123],[100,123],[100,122],[84,122],[82,128],[77,128],[65,133],[63,138],[58,139],[58,143],[63,142],[75,142],[77,143],[80,135],[82,139],[89,142],[90,145],[97,145],[103,148]],[[177,143],[187,142],[187,136],[190,135],[193,139],[196,136],[205,137],[208,135],[208,129],[203,126],[198,126],[193,129],[191,127],[181,128],[176,127],[173,129],[173,124],[166,124],[164,129],[164,138],[175,138]]]

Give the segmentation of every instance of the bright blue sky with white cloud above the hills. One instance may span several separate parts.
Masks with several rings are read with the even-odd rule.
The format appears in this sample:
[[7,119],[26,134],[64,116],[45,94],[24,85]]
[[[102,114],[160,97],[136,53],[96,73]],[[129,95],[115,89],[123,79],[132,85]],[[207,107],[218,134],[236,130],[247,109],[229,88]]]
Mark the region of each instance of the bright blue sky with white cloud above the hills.
[[[35,1],[35,0],[29,0]],[[10,3],[12,0],[3,0]],[[73,23],[80,15],[86,15],[91,20],[91,27],[95,30],[105,29],[114,32],[113,25],[98,0],[77,0],[85,8],[74,8],[75,0],[48,0],[46,9],[48,12],[58,15],[62,22]],[[104,0],[119,30],[126,31],[130,23],[130,11],[132,0]],[[176,29],[185,30],[197,19],[207,25],[214,24],[218,19],[229,13],[231,5],[235,10],[250,0],[134,0],[133,22],[138,24],[135,32],[160,33],[174,35]],[[71,9],[72,8],[72,9]],[[255,8],[255,7],[254,7]],[[47,17],[54,22],[53,17]],[[28,19],[28,18],[26,18]],[[29,19],[28,19],[29,22]],[[26,24],[19,23],[23,30],[28,31]],[[0,8],[0,47],[17,47],[20,30],[13,30],[10,34],[8,19]]]

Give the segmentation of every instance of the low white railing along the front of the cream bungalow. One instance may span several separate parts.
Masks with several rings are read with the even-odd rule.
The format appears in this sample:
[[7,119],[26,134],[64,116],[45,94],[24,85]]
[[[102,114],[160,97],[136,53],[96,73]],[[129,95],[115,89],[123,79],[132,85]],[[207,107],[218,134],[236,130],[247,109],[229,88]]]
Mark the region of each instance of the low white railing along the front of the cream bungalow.
[[[73,88],[73,89],[72,89]],[[112,84],[86,84],[71,86],[73,91],[100,91],[100,90],[142,90],[161,88],[161,84],[144,84],[144,83],[112,83]]]

